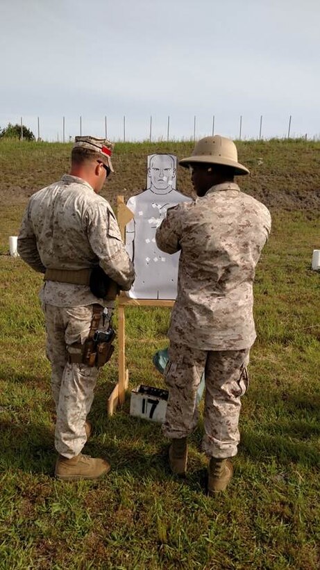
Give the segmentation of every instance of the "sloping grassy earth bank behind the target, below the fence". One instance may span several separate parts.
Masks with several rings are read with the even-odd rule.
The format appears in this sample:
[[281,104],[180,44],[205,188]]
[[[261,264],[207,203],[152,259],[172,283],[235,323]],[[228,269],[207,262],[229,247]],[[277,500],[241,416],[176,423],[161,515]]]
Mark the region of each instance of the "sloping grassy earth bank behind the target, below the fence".
[[[24,204],[32,193],[58,180],[69,169],[69,144],[0,141],[0,205]],[[115,196],[126,198],[146,185],[146,155],[170,152],[178,158],[192,152],[192,142],[121,143],[112,161],[115,174],[103,190],[115,206]],[[239,178],[242,190],[271,209],[320,208],[320,142],[271,140],[238,142],[239,161],[251,170]],[[190,195],[189,172],[178,168],[178,189]]]

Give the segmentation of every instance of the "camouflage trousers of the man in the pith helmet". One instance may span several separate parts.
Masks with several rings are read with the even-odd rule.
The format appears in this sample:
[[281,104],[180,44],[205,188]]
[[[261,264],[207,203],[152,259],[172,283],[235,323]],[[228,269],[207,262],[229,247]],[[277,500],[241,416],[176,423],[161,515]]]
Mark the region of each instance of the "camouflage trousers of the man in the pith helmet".
[[187,437],[196,428],[196,391],[205,373],[203,451],[209,457],[233,457],[239,443],[240,398],[248,388],[249,349],[205,351],[171,343],[165,380],[169,387],[162,430]]

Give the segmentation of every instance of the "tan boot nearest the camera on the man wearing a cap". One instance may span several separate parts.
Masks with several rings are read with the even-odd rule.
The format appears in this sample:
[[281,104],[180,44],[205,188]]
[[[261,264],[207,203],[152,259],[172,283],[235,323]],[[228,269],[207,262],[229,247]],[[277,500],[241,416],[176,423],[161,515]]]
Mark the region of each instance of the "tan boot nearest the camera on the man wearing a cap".
[[79,453],[71,459],[59,455],[54,474],[61,481],[80,481],[83,479],[100,479],[108,471],[110,471],[110,464],[105,459]]

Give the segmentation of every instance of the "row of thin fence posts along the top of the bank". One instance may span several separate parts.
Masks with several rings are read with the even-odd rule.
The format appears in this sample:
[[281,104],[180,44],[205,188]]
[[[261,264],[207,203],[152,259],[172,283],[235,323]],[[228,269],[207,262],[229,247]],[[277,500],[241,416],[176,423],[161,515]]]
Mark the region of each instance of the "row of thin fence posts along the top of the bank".
[[[193,116],[193,121],[190,120],[190,124],[192,124],[193,129],[190,129],[187,136],[181,136],[181,133],[175,133],[174,129],[171,128],[171,116],[167,115],[167,120],[165,121],[165,125],[162,122],[162,129],[154,129],[154,121],[153,115],[150,115],[146,120],[146,131],[144,135],[140,135],[137,138],[133,138],[133,136],[128,136],[128,124],[130,124],[130,120],[128,121],[128,117],[126,115],[122,115],[121,120],[116,120],[115,117],[108,117],[105,115],[101,120],[86,120],[85,127],[83,128],[83,115],[80,115],[76,119],[69,119],[66,120],[66,117],[60,117],[60,119],[48,119],[37,116],[37,117],[22,117],[20,116],[18,119],[16,117],[15,120],[12,121],[1,121],[0,116],[0,124],[2,124],[2,128],[4,124],[19,124],[20,126],[20,139],[23,140],[24,132],[23,127],[28,127],[33,132],[35,139],[38,141],[47,140],[50,142],[71,142],[74,140],[74,134],[69,134],[70,131],[76,133],[76,135],[82,136],[83,134],[92,134],[92,133],[99,133],[98,136],[105,136],[106,138],[110,138],[111,140],[117,140],[118,142],[139,142],[142,140],[149,140],[150,142],[158,142],[162,141],[169,141],[169,140],[196,140],[197,138],[201,138],[201,136],[208,136],[215,134],[215,124],[216,124],[216,117],[212,115],[211,117],[211,129],[210,132],[206,132],[205,135],[199,136],[199,129],[198,129],[198,121],[197,116]],[[117,123],[117,127],[115,128],[115,124]],[[87,125],[90,124],[90,129],[87,128]],[[207,123],[208,124],[208,123]],[[264,116],[260,115],[259,121],[257,121],[257,131],[255,136],[249,136],[247,133],[244,132],[243,129],[243,115],[239,115],[237,124],[233,127],[233,136],[236,140],[269,140],[270,138],[305,138],[305,140],[319,140],[319,136],[317,135],[308,135],[308,133],[292,133],[292,115],[289,115],[286,121],[283,123],[282,134],[271,134],[270,132],[264,134]],[[67,129],[68,127],[68,129]],[[110,128],[111,127],[111,128]],[[130,129],[131,133],[133,129]],[[252,128],[251,128],[252,130]],[[56,135],[53,135],[53,132],[56,132]],[[112,133],[111,133],[112,131]],[[115,131],[117,131],[117,135],[115,135]],[[51,132],[51,134],[49,134]],[[219,131],[219,133],[224,133],[224,131]]]

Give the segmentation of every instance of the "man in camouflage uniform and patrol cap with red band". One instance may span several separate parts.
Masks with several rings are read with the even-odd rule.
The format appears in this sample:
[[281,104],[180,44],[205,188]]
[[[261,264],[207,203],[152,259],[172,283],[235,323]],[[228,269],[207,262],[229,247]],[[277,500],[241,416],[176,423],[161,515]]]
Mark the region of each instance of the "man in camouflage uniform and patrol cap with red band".
[[64,477],[62,473],[60,477],[67,480],[95,478],[92,474],[106,468],[106,462],[97,466],[93,462],[98,459],[90,463],[91,458],[81,456],[98,368],[70,361],[75,353],[81,360],[94,306],[101,307],[99,329],[110,326],[114,301],[96,298],[89,286],[90,272],[100,266],[125,291],[135,277],[115,213],[99,196],[112,170],[111,153],[112,145],[106,139],[76,137],[71,174],[31,197],[18,238],[22,259],[45,274],[40,298],[46,316],[47,357],[56,404],[56,450],[64,459],[81,457],[84,471],[82,477],[75,461],[71,470],[74,476],[71,473],[68,477],[67,473]]

